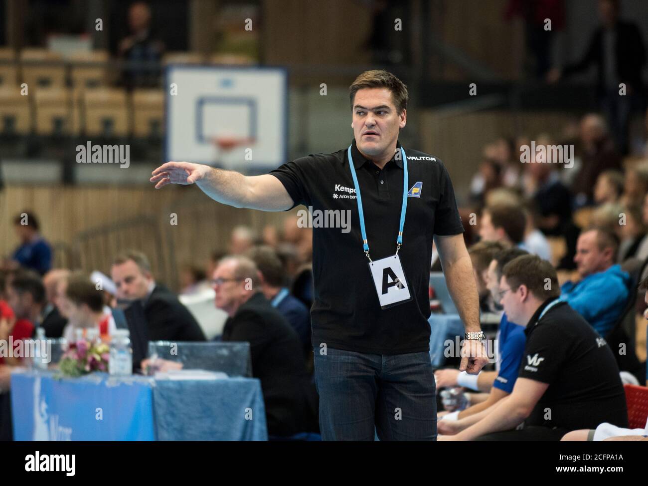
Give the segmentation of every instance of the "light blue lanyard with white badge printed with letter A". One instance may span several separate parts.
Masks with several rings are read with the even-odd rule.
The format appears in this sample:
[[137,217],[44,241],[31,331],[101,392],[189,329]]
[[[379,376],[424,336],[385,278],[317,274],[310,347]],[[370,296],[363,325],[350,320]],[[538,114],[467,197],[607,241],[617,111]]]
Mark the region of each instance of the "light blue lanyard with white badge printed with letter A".
[[410,288],[407,284],[405,273],[400,264],[399,250],[400,245],[403,243],[403,228],[405,226],[405,213],[407,211],[407,193],[408,193],[408,169],[407,158],[405,151],[400,147],[400,154],[403,160],[403,202],[400,208],[400,228],[399,234],[396,239],[396,253],[393,256],[381,258],[380,260],[371,260],[369,256],[369,243],[367,242],[367,232],[365,230],[364,212],[362,210],[362,197],[360,196],[360,184],[358,184],[358,176],[356,176],[356,169],[353,165],[353,157],[351,156],[351,145],[347,150],[349,156],[349,167],[351,168],[351,176],[353,177],[353,184],[356,189],[356,201],[358,202],[358,216],[360,217],[360,232],[362,233],[362,248],[365,255],[369,259],[369,271],[373,278],[373,284],[376,287],[378,300],[380,301],[381,309],[388,309],[404,302],[411,300]]

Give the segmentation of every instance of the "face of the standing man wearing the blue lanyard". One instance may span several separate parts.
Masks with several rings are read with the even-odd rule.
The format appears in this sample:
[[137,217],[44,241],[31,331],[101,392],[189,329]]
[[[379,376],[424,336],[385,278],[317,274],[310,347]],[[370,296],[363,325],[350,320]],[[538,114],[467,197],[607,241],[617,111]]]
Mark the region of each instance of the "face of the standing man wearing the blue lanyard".
[[405,127],[406,111],[399,115],[387,88],[364,88],[356,92],[353,102],[353,135],[360,152],[378,158],[386,156],[389,147]]

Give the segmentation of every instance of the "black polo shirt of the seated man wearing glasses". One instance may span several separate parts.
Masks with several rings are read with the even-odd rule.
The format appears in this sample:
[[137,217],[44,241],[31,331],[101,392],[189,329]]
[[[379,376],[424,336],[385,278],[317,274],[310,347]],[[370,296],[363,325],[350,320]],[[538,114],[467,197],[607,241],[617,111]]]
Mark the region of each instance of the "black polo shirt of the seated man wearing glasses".
[[549,384],[526,424],[568,430],[594,429],[603,422],[627,427],[625,393],[610,346],[567,302],[538,321],[552,300],[538,308],[524,330],[518,378]]

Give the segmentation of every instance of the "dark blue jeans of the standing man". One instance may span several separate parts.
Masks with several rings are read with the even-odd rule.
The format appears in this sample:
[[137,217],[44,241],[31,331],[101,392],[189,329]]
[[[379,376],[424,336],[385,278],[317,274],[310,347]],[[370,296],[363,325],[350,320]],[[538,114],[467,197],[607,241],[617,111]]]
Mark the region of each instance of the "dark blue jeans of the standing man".
[[437,404],[428,352],[315,353],[324,441],[435,441]]

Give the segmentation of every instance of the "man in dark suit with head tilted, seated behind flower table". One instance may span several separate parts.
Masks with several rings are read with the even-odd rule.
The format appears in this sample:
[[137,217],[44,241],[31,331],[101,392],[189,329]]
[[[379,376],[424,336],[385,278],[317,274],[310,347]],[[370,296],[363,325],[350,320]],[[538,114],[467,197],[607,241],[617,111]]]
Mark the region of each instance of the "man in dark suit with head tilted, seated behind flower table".
[[145,341],[205,341],[191,312],[167,287],[156,284],[145,254],[130,251],[117,256],[111,277],[117,298],[143,306]]

